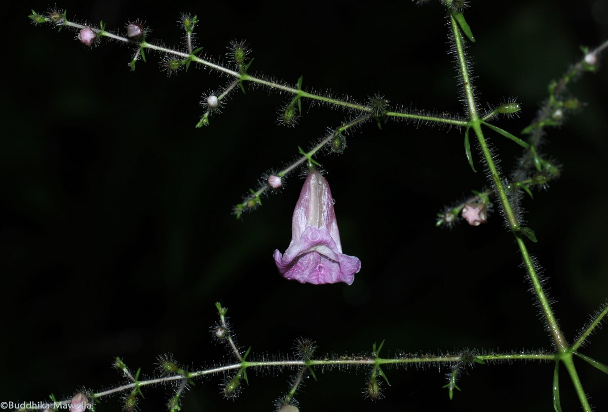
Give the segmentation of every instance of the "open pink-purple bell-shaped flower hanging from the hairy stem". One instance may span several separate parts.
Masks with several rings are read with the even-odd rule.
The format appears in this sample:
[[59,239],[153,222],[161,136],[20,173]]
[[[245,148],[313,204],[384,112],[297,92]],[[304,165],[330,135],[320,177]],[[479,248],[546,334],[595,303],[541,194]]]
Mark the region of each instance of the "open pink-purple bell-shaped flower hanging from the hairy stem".
[[300,283],[351,284],[361,261],[342,253],[330,185],[313,170],[308,174],[295,205],[291,243],[283,254],[274,251],[278,271]]

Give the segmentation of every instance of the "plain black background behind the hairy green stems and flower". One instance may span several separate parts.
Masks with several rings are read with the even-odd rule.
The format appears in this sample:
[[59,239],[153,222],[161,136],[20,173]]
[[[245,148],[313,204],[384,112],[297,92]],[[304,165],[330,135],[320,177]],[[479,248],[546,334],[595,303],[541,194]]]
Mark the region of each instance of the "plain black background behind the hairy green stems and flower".
[[[519,118],[497,125],[517,133],[536,114],[547,84],[581,57],[579,45],[608,38],[608,2],[473,2],[466,18],[477,37],[473,57],[479,101],[515,97]],[[221,57],[246,39],[259,72],[308,89],[331,89],[365,101],[379,92],[392,104],[461,113],[454,63],[447,55],[439,4],[410,2],[59,3],[77,21],[146,21],[149,39],[180,44],[176,21],[197,13],[198,44]],[[30,9],[3,15],[2,401],[71,397],[123,382],[116,356],[143,376],[171,353],[190,370],[233,362],[212,342],[215,301],[229,307],[241,346],[264,357],[286,354],[296,338],[317,354],[365,354],[386,340],[383,355],[550,349],[527,291],[513,236],[498,213],[480,227],[434,227],[444,205],[485,185],[471,172],[463,134],[406,123],[372,123],[348,139],[343,156],[319,157],[337,200],[347,254],[362,270],[352,286],[302,285],[281,278],[272,252],[286,249],[302,179],[237,221],[233,205],[269,168],[280,168],[326,128],[347,118],[304,101],[300,125],[277,125],[285,95],[249,88],[232,94],[224,113],[195,129],[201,94],[228,82],[195,67],[170,78],[162,55],[130,72],[130,47],[103,40],[88,50],[75,32],[29,24]],[[608,156],[605,70],[585,74],[569,92],[586,103],[547,134],[545,153],[563,165],[549,191],[526,199],[530,250],[550,278],[554,309],[572,342],[608,297],[605,160]],[[519,146],[488,132],[504,171]],[[479,165],[478,157],[475,162]],[[480,169],[480,167],[478,167]],[[428,256],[432,256],[429,258]],[[604,363],[606,330],[584,352]],[[596,410],[608,402],[608,377],[577,362]],[[386,399],[362,399],[368,371],[317,371],[298,394],[302,410],[552,410],[553,364],[477,366],[449,400],[449,369],[386,369]],[[235,400],[221,377],[197,380],[184,411],[272,410],[295,371],[249,373]],[[562,369],[562,406],[578,401]],[[140,410],[164,410],[168,387],[144,388]],[[122,408],[119,397],[99,411]]]

